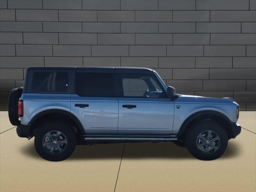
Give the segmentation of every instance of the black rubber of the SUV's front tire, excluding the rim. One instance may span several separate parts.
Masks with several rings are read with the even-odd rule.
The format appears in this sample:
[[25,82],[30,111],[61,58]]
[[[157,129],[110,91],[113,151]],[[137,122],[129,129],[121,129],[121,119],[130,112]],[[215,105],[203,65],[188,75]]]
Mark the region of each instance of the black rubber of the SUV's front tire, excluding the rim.
[[[198,135],[206,130],[212,130],[216,132],[220,137],[220,147],[216,152],[211,154],[204,153],[202,150],[198,149],[196,146],[196,139]],[[223,126],[218,124],[217,122],[211,120],[205,120],[198,122],[192,126],[186,135],[186,148],[192,154],[192,156],[200,159],[200,160],[214,160],[220,158],[226,151],[228,146],[228,135]]]

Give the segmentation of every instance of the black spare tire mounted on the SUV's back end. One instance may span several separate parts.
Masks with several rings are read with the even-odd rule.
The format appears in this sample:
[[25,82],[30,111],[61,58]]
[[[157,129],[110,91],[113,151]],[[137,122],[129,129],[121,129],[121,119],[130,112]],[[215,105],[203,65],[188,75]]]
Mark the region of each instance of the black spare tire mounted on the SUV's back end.
[[14,88],[10,91],[8,99],[8,115],[12,125],[20,125],[18,115],[18,100],[23,92],[23,88]]

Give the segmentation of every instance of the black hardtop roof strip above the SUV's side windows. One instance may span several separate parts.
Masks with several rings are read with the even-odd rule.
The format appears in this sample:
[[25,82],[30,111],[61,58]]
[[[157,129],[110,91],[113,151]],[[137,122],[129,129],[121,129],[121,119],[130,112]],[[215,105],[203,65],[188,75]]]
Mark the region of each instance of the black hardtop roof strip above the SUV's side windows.
[[138,67],[30,67],[30,70],[76,70],[77,72],[152,74],[149,68]]

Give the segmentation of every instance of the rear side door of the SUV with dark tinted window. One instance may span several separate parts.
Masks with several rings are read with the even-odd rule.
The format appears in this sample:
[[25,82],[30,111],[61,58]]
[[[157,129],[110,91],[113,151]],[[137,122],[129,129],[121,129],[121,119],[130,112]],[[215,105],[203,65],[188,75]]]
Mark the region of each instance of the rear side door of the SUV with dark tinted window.
[[87,134],[117,133],[118,99],[114,97],[113,69],[97,72],[78,69],[71,112]]

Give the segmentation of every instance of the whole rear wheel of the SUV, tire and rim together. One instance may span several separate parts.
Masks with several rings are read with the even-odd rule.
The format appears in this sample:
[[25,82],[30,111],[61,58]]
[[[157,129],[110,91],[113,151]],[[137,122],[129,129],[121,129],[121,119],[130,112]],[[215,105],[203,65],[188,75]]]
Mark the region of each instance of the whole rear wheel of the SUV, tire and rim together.
[[34,140],[36,152],[48,161],[67,159],[74,152],[76,143],[77,137],[72,125],[58,121],[40,126]]

